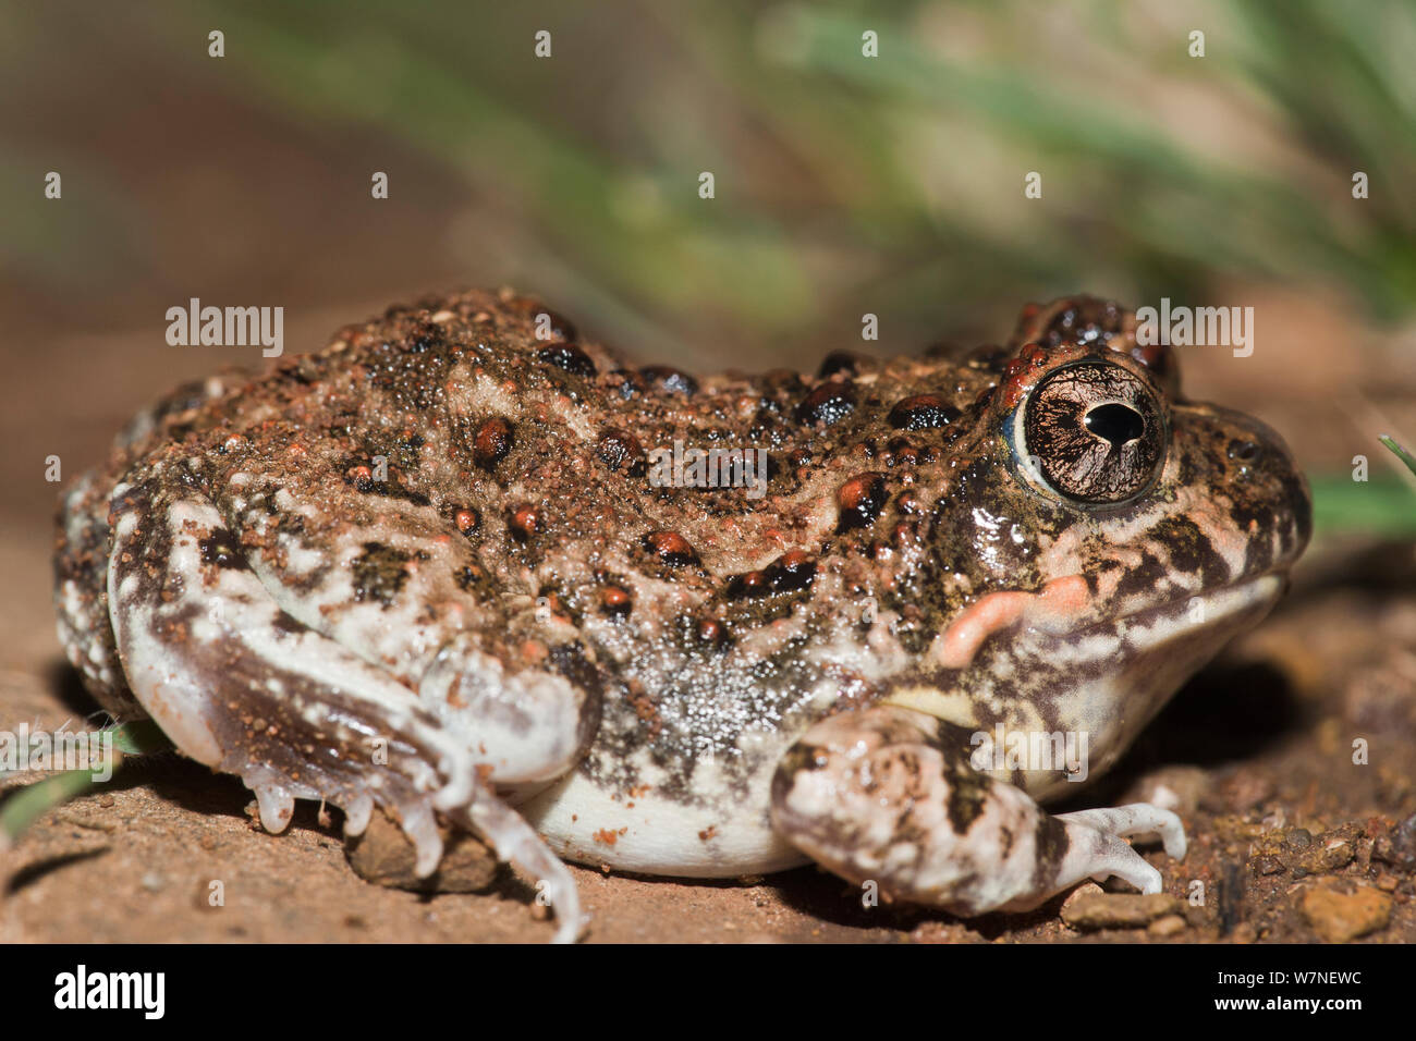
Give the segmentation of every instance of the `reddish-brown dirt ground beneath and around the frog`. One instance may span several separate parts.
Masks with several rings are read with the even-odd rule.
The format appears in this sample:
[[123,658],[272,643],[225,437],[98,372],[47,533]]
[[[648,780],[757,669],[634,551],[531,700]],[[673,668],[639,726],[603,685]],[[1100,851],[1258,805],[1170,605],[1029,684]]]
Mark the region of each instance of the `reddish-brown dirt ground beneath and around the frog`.
[[[30,443],[0,463],[0,480],[24,489],[4,503],[0,542],[7,576],[0,721],[8,729],[78,724],[95,711],[52,632],[55,489],[35,480],[34,460],[57,452],[74,467],[71,477],[133,408],[130,395],[181,375],[170,363],[156,364],[156,351],[147,351],[154,364],[143,371],[119,367],[119,358],[144,357],[122,343],[91,355],[112,360],[115,371],[64,365],[82,350],[68,343],[31,355],[23,375],[34,394],[10,415],[16,438]],[[105,381],[120,392],[106,394]],[[1416,938],[1413,588],[1409,545],[1315,547],[1274,618],[1197,677],[1120,768],[1068,807],[1172,800],[1189,855],[1177,864],[1155,848],[1148,857],[1178,904],[1097,901],[1096,887],[1083,887],[1066,908],[1059,898],[1027,916],[956,921],[864,906],[858,889],[814,868],[726,884],[575,868],[592,915],[588,940],[1409,942]],[[1354,763],[1358,739],[1366,742],[1365,763]],[[11,776],[0,786],[31,779]],[[346,861],[338,814],[331,816],[321,823],[319,807],[302,803],[289,831],[269,836],[234,778],[176,755],[129,759],[109,787],[52,812],[0,854],[0,940],[549,938],[552,926],[532,912],[531,888],[507,870],[474,894],[362,881]],[[214,882],[221,906],[212,905]]]

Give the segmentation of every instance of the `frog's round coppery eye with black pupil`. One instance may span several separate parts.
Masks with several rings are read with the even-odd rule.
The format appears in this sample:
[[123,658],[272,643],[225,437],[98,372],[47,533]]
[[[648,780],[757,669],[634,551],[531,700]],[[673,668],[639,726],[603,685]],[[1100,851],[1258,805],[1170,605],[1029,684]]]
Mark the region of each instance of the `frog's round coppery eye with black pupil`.
[[1109,361],[1065,365],[1022,414],[1025,455],[1076,503],[1112,504],[1150,487],[1165,456],[1165,412],[1140,377]]

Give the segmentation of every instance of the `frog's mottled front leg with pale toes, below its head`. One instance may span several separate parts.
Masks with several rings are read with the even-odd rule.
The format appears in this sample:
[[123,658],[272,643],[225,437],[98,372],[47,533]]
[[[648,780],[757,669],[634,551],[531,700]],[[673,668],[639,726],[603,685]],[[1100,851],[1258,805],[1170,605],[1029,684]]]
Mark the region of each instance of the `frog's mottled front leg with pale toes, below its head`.
[[957,915],[1025,911],[1086,878],[1160,892],[1123,838],[1158,831],[1184,857],[1180,819],[1136,804],[1054,816],[969,763],[957,728],[895,705],[830,717],[783,756],[773,826],[813,860],[886,895]]

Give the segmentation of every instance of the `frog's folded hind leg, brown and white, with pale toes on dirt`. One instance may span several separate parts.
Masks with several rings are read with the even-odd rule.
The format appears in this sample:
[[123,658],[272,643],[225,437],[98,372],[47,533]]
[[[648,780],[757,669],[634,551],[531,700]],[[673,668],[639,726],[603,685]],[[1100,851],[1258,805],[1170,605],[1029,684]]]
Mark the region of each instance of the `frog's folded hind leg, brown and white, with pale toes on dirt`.
[[[112,513],[108,591],[129,686],[183,752],[241,776],[268,830],[289,824],[295,799],[324,799],[358,834],[377,803],[429,875],[440,812],[542,880],[556,939],[578,935],[569,871],[493,785],[498,765],[507,782],[569,769],[592,695],[545,673],[504,676],[460,646],[415,693],[282,610],[211,501],[161,465],[120,486]],[[510,705],[494,704],[498,683]]]

